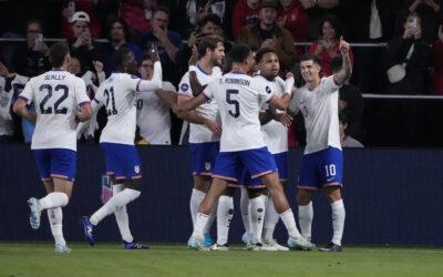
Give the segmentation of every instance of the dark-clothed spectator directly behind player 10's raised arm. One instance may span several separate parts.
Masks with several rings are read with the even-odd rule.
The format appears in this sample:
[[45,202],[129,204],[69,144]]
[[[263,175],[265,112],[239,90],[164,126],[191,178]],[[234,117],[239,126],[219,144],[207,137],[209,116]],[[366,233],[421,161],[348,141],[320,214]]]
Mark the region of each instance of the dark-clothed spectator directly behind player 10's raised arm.
[[[332,73],[340,71],[342,62],[341,57],[332,59]],[[364,100],[360,89],[350,84],[348,80],[339,90],[339,112],[347,117],[347,134],[359,141],[362,141],[364,137],[362,121],[363,110]]]

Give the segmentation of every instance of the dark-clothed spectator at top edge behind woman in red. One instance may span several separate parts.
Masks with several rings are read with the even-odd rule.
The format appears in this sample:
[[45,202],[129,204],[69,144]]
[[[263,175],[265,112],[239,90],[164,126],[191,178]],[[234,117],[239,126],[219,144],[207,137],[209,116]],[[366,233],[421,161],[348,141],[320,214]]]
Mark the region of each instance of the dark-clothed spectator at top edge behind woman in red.
[[306,13],[308,14],[309,40],[316,40],[321,34],[321,23],[326,16],[340,16],[339,0],[300,0],[300,4],[305,8]]

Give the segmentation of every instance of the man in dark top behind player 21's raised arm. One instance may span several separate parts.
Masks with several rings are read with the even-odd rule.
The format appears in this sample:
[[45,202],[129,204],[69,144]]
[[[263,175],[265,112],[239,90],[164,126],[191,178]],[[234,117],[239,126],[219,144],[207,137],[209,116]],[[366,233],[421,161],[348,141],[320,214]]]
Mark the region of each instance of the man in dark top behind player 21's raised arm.
[[138,47],[142,50],[150,49],[155,44],[158,49],[159,60],[162,62],[163,79],[173,83],[178,82],[176,55],[182,49],[182,38],[178,33],[169,31],[169,9],[157,7],[152,19],[152,31],[144,33],[138,39]]

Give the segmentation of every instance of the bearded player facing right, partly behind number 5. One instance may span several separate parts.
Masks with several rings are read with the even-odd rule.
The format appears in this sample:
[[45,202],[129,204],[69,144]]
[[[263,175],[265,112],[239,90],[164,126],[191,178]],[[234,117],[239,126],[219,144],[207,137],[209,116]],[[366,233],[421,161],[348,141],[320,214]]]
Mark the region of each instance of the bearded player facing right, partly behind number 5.
[[[206,37],[200,41],[197,50],[199,60],[196,64],[197,69],[195,70],[195,74],[198,82],[202,85],[206,85],[212,80],[222,76],[219,66],[222,66],[225,58],[225,47],[222,39],[217,37]],[[189,74],[190,72],[187,72],[182,78],[178,85],[179,104],[194,98]],[[198,206],[208,192],[210,175],[219,152],[222,133],[219,112],[216,101],[208,100],[196,111],[183,112],[177,115],[190,122],[189,147],[192,152],[194,188],[190,194],[189,209],[194,225],[198,213]],[[207,225],[205,234],[208,233],[213,220],[214,216],[212,216],[212,220]],[[207,245],[210,245],[210,242],[207,242]]]

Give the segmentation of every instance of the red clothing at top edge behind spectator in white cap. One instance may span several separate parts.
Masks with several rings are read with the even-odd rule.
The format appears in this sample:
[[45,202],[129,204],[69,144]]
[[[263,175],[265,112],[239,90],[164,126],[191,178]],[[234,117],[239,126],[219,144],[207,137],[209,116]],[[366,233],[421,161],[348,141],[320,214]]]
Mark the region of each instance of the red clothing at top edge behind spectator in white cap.
[[[65,1],[68,7],[68,2]],[[97,38],[101,34],[102,31],[102,25],[100,23],[97,13],[95,11],[95,4],[91,0],[75,0],[75,11],[84,11],[90,16],[90,33],[91,37]],[[68,20],[65,17],[63,17],[63,22],[62,22],[62,28],[61,28],[61,35],[63,38],[72,38],[72,28],[71,28],[71,22]]]

